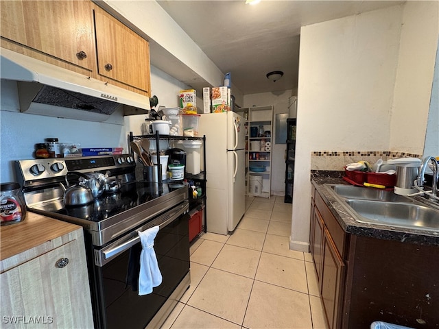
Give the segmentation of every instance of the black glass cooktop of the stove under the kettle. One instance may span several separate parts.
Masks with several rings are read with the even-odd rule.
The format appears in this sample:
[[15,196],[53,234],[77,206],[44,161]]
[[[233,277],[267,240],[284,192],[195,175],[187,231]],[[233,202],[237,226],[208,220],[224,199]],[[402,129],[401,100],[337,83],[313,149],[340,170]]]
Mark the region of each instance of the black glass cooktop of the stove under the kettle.
[[179,188],[187,188],[184,184],[159,184],[151,182],[131,182],[121,186],[117,193],[104,193],[91,204],[84,206],[64,206],[62,202],[52,204],[44,210],[67,215],[88,221],[103,221],[121,212],[141,206]]

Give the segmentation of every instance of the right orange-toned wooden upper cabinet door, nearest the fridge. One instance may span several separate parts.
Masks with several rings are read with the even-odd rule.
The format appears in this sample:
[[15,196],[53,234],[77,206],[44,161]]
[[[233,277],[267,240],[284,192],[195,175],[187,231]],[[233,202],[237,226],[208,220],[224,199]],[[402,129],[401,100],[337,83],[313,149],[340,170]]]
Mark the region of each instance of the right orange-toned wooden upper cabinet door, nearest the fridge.
[[99,75],[149,93],[150,44],[101,8],[94,11]]

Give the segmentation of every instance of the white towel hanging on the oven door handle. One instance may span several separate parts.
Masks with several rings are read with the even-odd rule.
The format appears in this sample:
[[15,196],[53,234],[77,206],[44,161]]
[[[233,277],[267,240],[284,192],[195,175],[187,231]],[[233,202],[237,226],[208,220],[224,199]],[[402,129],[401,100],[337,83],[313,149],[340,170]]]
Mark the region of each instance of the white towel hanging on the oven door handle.
[[158,233],[158,226],[143,232],[137,232],[142,244],[140,254],[139,296],[152,293],[154,287],[162,283],[162,273],[158,268],[156,252],[154,252],[154,238]]

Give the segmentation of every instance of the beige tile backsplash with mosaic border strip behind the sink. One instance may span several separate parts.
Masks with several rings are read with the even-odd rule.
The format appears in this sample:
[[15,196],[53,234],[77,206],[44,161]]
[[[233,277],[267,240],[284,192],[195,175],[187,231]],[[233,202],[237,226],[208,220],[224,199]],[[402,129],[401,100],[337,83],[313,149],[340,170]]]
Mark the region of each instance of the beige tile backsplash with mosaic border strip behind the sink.
[[311,152],[311,170],[344,170],[348,163],[360,160],[374,164],[392,158],[422,158],[422,154],[409,154],[394,151],[313,151]]

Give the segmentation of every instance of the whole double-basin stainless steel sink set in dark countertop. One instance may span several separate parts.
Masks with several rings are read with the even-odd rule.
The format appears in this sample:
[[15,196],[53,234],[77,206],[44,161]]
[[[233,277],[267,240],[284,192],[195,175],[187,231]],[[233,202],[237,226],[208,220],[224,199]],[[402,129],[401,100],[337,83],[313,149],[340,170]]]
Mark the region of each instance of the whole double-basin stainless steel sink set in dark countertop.
[[359,223],[439,232],[439,208],[393,191],[343,184],[326,184]]

